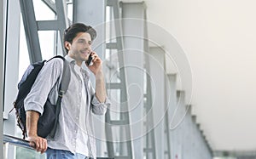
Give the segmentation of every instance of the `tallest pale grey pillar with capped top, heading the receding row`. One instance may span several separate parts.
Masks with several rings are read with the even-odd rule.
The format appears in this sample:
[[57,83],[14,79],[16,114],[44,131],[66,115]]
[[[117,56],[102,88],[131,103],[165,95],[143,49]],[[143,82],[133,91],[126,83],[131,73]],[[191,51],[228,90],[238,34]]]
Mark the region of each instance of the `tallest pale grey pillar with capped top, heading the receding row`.
[[121,3],[134,158],[143,158],[144,3]]

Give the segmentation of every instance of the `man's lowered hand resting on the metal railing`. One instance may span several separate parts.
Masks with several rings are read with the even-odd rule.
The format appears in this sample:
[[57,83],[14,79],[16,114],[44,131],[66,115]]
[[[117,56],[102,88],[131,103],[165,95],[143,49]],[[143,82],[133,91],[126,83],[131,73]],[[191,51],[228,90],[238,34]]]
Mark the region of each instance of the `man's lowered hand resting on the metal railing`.
[[47,140],[38,135],[28,136],[27,140],[35,150],[44,153],[47,150]]

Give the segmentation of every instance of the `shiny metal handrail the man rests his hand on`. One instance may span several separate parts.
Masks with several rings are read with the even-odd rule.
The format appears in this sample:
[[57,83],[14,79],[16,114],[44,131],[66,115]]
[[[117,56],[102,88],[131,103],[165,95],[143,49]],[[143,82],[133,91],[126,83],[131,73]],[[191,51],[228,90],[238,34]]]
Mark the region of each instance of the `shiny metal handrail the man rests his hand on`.
[[[19,146],[19,147],[24,147],[26,149],[31,149],[34,150],[32,148],[31,145],[29,145],[29,141],[25,140],[25,139],[20,139],[14,136],[10,136],[7,134],[3,134],[3,145],[4,145],[4,159],[7,159],[8,156],[8,147],[10,145],[15,145],[15,146]],[[109,158],[109,157],[97,157],[96,159],[114,159],[114,158]]]

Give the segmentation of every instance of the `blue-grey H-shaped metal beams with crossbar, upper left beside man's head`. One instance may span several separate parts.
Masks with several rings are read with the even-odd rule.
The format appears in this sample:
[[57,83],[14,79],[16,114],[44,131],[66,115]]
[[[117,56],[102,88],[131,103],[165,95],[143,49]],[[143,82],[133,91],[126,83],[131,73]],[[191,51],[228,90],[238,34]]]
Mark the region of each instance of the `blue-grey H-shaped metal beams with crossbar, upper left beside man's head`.
[[[48,4],[49,1],[45,0],[44,3]],[[57,15],[57,20],[37,21],[32,0],[20,0],[20,10],[26,32],[26,42],[31,63],[42,60],[38,31],[60,31],[62,37],[64,30],[68,26],[67,4],[65,2],[66,1],[55,1],[55,5],[53,2],[51,2],[53,5],[48,5]],[[65,54],[64,45],[63,43],[61,44],[62,53]]]

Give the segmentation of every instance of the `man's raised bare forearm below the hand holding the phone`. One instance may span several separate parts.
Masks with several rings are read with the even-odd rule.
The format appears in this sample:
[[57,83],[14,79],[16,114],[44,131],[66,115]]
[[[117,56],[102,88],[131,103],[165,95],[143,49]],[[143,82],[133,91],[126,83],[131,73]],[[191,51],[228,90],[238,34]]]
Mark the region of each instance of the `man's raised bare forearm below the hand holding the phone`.
[[107,97],[105,81],[102,71],[96,74],[96,98],[101,102],[105,102]]

